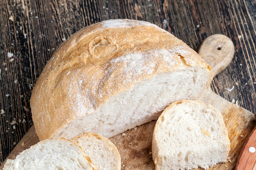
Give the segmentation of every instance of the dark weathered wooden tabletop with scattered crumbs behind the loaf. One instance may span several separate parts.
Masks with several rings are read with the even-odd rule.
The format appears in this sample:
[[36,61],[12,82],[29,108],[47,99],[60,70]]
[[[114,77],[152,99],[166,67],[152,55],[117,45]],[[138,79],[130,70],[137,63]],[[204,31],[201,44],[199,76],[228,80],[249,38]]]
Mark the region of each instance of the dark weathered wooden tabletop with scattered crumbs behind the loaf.
[[115,18],[152,22],[195,50],[209,35],[227,35],[235,56],[211,87],[256,113],[255,0],[1,0],[1,163],[33,124],[31,90],[54,51],[82,27]]

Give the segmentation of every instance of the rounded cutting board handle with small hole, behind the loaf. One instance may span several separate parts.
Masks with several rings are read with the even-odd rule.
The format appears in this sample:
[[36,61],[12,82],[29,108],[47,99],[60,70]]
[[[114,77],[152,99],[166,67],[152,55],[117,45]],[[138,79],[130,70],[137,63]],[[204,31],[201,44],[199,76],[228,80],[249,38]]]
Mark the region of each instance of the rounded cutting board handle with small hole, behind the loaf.
[[222,34],[214,34],[206,38],[198,49],[198,54],[211,66],[213,77],[230,64],[235,47],[230,38]]

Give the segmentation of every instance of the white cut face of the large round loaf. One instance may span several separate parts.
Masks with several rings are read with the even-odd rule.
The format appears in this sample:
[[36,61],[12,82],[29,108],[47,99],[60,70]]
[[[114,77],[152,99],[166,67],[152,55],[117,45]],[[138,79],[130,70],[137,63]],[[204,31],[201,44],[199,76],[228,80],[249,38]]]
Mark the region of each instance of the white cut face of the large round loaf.
[[[63,136],[69,139],[74,134],[79,135],[83,132],[98,132],[106,138],[112,137],[157,119],[161,111],[172,102],[195,99],[206,86],[201,83],[207,76],[202,68],[196,67],[158,74],[111,97],[94,113],[70,120],[54,137]],[[79,90],[75,83],[70,84],[73,84],[72,91]],[[83,96],[86,95],[83,93],[74,94],[77,98],[70,101],[72,107],[78,107],[76,111],[79,113],[86,113],[83,110],[86,102],[82,103]]]

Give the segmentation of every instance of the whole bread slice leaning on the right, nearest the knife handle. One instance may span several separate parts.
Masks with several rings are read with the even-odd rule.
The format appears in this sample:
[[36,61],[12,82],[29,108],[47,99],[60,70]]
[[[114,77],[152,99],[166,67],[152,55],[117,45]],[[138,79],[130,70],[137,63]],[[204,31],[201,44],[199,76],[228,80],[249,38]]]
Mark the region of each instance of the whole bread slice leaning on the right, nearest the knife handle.
[[183,100],[168,106],[153,132],[155,170],[208,169],[227,161],[228,132],[221,113],[211,105]]

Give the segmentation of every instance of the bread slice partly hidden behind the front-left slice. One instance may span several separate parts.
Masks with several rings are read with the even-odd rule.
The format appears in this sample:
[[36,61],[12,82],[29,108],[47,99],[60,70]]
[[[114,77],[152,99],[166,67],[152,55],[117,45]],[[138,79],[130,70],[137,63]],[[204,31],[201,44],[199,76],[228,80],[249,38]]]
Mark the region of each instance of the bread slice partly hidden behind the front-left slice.
[[87,132],[72,139],[84,150],[99,170],[121,170],[121,157],[117,147],[103,136]]

